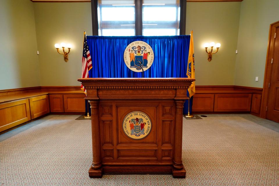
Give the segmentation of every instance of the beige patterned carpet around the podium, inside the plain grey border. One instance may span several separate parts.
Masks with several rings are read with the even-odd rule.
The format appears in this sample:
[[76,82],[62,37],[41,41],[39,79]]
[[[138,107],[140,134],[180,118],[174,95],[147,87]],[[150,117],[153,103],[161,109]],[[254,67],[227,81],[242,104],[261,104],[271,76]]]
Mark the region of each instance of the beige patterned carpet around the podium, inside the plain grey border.
[[53,116],[0,142],[0,185],[279,185],[279,133],[242,117],[183,119],[185,179],[89,178],[90,121],[76,118]]

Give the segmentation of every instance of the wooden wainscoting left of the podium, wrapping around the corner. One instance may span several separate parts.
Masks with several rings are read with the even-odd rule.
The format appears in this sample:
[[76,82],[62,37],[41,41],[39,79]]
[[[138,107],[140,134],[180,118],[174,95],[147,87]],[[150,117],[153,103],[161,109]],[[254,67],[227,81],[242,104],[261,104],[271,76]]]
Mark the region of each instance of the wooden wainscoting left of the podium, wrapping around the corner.
[[0,90],[0,132],[49,112],[84,113],[84,97],[79,86]]

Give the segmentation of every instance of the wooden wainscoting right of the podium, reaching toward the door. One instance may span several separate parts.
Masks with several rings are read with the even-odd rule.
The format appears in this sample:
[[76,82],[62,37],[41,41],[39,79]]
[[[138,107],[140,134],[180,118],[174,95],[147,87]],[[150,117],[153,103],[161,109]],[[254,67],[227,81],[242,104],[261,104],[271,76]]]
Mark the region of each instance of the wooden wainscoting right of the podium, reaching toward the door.
[[260,116],[262,88],[196,86],[193,112],[250,112]]

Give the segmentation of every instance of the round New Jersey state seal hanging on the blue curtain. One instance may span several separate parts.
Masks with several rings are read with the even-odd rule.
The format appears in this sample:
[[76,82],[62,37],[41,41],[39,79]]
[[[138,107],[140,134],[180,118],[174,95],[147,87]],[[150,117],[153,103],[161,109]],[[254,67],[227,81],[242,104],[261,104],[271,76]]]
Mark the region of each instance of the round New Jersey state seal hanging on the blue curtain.
[[124,51],[124,62],[134,72],[142,72],[149,69],[153,64],[154,53],[149,44],[143,41],[134,41]]

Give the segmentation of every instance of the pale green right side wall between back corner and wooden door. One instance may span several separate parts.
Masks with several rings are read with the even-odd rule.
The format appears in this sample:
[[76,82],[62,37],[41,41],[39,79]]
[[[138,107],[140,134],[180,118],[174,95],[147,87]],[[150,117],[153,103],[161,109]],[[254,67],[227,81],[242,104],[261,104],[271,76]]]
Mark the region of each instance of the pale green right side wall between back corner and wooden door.
[[[263,87],[269,25],[279,21],[278,0],[241,3],[235,85]],[[259,81],[255,81],[255,77]]]

